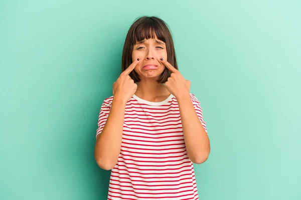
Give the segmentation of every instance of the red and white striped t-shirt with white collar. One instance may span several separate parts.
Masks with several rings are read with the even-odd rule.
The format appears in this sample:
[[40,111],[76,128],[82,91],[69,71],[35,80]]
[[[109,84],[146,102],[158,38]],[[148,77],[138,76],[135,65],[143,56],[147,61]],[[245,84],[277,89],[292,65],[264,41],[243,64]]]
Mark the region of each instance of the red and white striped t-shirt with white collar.
[[[200,101],[190,96],[207,132]],[[113,96],[108,97],[101,105],[96,136],[105,125],[112,100]],[[121,149],[111,170],[108,199],[198,198],[176,97],[171,94],[164,101],[150,102],[134,94],[125,106]]]

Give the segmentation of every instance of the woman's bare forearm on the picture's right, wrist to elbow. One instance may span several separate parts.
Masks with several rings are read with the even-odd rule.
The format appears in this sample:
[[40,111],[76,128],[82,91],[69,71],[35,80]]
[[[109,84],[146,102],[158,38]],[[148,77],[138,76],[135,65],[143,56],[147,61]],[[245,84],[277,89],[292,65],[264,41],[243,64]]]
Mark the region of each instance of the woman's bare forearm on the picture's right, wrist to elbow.
[[206,161],[210,152],[210,142],[192,103],[189,94],[177,97],[186,151],[194,163]]

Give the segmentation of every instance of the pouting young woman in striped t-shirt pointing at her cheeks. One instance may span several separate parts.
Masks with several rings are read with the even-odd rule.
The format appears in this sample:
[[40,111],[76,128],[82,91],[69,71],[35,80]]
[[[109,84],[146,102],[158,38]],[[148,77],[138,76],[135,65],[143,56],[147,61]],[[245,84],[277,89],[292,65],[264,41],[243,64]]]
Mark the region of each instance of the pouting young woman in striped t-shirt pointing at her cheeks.
[[198,199],[193,163],[209,152],[200,101],[178,70],[168,25],[138,18],[99,113],[94,156],[111,169],[108,199]]

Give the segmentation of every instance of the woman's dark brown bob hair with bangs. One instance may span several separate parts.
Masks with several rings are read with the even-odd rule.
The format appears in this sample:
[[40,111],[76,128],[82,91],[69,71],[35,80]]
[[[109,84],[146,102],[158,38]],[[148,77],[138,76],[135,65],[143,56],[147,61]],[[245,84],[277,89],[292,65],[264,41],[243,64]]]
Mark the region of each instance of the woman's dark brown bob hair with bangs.
[[[142,16],[133,22],[127,32],[122,51],[122,71],[124,71],[132,63],[131,53],[134,44],[143,39],[155,38],[155,36],[166,43],[167,61],[178,69],[173,37],[167,23],[156,16]],[[157,82],[166,82],[170,75],[171,71],[166,67],[159,76]],[[129,76],[134,80],[134,82],[140,81],[137,72],[134,70],[129,73]]]

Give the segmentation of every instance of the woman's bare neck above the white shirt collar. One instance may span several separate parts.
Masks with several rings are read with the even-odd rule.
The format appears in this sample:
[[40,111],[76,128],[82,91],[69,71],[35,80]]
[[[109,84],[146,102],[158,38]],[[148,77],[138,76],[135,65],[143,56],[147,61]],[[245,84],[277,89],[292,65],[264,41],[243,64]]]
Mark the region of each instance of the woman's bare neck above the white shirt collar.
[[162,101],[171,94],[163,83],[153,78],[143,79],[137,82],[137,86],[135,95],[148,101]]

